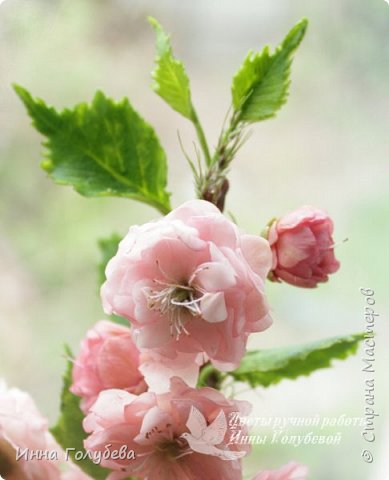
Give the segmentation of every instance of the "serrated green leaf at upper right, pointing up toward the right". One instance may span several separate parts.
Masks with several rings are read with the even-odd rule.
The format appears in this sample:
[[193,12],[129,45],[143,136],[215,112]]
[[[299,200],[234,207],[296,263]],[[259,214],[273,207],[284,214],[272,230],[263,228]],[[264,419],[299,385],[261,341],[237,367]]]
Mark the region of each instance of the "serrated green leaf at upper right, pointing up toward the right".
[[292,56],[307,26],[307,19],[297,23],[274,53],[268,46],[262,52],[249,52],[232,83],[233,106],[240,121],[271,118],[286,102]]

